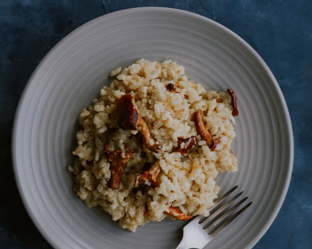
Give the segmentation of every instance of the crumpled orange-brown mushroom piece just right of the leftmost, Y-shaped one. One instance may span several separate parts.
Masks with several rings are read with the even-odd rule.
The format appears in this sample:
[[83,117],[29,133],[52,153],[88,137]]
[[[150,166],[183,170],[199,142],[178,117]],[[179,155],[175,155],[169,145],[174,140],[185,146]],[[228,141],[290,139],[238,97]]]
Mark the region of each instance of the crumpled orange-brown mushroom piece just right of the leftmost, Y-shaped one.
[[140,184],[150,185],[152,188],[159,187],[159,182],[157,180],[158,174],[160,173],[159,161],[154,163],[148,171],[143,171],[142,174],[138,175],[133,186],[137,188]]

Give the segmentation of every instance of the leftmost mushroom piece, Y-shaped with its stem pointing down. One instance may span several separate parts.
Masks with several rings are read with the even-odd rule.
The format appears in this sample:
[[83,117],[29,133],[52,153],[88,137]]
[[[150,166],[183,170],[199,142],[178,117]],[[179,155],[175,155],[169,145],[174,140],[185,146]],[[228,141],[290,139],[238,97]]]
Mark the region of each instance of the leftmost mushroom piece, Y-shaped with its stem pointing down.
[[108,154],[108,162],[110,162],[110,179],[109,187],[112,189],[118,189],[121,181],[121,175],[124,165],[132,156],[132,150],[127,144],[124,145],[123,150],[109,150],[109,145],[105,145],[105,152]]

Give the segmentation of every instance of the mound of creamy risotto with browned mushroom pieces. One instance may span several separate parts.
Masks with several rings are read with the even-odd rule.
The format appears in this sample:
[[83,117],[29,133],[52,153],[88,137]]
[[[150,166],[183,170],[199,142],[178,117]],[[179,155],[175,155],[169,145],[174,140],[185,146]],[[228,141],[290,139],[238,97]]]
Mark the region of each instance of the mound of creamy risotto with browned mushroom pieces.
[[214,179],[237,170],[234,92],[206,91],[183,74],[174,61],[139,59],[113,70],[111,84],[81,111],[68,166],[73,189],[124,229],[208,216]]

